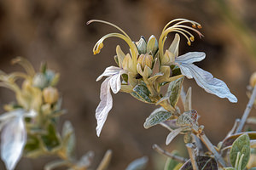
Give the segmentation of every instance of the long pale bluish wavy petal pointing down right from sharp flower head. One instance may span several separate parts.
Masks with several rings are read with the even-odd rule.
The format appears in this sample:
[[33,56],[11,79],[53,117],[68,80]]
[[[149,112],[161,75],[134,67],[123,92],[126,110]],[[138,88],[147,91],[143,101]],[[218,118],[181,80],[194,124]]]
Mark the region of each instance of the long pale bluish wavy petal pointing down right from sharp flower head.
[[195,82],[201,88],[204,88],[207,93],[215,94],[219,98],[227,98],[232,103],[237,102],[236,96],[230,93],[230,89],[227,85],[218,78],[214,78],[210,72],[204,71],[193,64],[177,63],[179,64],[182,74],[188,78],[194,77]]

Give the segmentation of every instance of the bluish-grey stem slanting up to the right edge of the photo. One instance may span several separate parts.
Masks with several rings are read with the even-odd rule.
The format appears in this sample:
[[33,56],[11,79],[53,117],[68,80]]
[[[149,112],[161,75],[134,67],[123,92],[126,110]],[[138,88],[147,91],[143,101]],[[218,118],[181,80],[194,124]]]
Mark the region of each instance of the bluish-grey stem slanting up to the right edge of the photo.
[[253,88],[253,94],[252,94],[251,98],[249,99],[249,102],[247,104],[247,108],[243,112],[243,116],[241,117],[241,121],[239,123],[239,126],[236,128],[236,133],[241,132],[242,127],[244,126],[245,122],[247,121],[247,117],[249,116],[249,113],[252,110],[255,98],[256,98],[256,85]]

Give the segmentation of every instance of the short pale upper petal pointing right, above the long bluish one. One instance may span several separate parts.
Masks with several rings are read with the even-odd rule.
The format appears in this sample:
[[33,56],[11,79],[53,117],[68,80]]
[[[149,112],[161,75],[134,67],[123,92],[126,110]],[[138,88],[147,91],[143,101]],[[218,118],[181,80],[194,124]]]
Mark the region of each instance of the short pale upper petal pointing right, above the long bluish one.
[[192,64],[194,62],[201,61],[206,58],[206,54],[203,52],[189,52],[187,54],[183,54],[178,56],[175,61],[182,62],[186,64]]

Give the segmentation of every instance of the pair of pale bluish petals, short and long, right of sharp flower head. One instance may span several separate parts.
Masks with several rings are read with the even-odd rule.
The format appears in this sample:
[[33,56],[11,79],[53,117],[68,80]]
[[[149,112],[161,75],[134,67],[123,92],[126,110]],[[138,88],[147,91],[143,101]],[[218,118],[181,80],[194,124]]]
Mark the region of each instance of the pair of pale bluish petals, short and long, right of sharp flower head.
[[236,96],[230,93],[230,89],[223,81],[214,78],[210,72],[204,71],[192,64],[193,62],[200,61],[204,58],[204,53],[194,52],[177,57],[175,62],[179,65],[184,76],[195,78],[195,82],[201,88],[204,88],[207,93],[215,94],[219,98],[227,98],[230,102],[236,103]]

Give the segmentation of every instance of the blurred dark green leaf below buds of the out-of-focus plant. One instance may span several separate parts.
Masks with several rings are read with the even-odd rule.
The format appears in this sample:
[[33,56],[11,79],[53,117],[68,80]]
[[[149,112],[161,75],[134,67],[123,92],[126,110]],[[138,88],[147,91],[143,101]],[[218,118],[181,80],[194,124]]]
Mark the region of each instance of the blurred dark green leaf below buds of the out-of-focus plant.
[[48,125],[47,134],[42,135],[41,138],[44,142],[44,146],[49,151],[60,145],[60,137],[56,133],[56,129],[53,124]]

